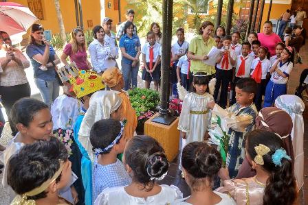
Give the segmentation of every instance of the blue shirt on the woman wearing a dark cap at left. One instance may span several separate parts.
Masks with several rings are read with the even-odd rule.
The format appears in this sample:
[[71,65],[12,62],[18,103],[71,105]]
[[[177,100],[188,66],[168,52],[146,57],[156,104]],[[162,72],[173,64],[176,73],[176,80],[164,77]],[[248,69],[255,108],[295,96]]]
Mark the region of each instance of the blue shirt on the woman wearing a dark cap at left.
[[[39,44],[30,44],[27,47],[26,53],[29,56],[30,62],[34,69],[34,78],[39,78],[42,80],[56,80],[55,67],[48,67],[47,71],[42,71],[40,69],[42,64],[33,59],[33,56],[37,54],[41,54],[43,56],[45,47],[46,45]],[[50,46],[50,56],[48,58],[48,62],[52,62],[54,60],[54,55],[56,55],[56,52],[54,51],[54,48]]]

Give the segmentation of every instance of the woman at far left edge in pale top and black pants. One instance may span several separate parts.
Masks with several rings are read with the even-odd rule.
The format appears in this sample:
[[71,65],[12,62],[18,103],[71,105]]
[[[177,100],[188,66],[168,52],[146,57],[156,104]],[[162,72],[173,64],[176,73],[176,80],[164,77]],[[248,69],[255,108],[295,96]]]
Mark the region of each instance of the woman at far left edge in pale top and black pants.
[[[30,62],[19,49],[12,47],[12,40],[6,32],[0,32],[0,39],[0,64],[3,70],[0,73],[0,95],[10,121],[10,110],[14,102],[22,97],[30,97],[31,88],[24,70],[30,67]],[[11,122],[10,127],[12,134],[17,134]]]

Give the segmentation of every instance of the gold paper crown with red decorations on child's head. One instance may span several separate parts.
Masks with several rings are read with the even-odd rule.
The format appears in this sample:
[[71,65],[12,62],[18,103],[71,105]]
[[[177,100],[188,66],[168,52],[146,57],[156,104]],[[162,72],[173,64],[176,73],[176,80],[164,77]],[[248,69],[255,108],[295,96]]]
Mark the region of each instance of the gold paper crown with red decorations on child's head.
[[69,82],[72,84],[72,91],[77,98],[83,97],[90,93],[102,90],[105,86],[102,83],[102,77],[91,71],[79,71],[77,78],[71,76]]

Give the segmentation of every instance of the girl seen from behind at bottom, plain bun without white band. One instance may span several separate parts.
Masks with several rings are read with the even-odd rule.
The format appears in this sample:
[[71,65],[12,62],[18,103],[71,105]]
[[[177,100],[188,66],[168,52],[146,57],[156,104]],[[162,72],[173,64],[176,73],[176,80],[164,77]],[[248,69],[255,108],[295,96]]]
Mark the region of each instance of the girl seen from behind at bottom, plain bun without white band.
[[175,204],[230,204],[234,200],[226,194],[212,191],[212,179],[221,168],[222,158],[217,149],[206,143],[192,142],[186,145],[181,156],[186,183],[191,195]]

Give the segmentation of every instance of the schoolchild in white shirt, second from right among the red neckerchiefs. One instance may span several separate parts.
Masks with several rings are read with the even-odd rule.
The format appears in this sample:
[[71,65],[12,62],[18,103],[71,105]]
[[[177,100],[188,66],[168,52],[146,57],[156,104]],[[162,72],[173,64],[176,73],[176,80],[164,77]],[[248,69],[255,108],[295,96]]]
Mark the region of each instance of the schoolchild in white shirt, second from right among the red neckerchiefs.
[[[242,51],[241,55],[236,57],[236,67],[235,67],[235,77],[234,77],[234,84],[238,82],[243,77],[250,77],[250,68],[252,66],[253,58],[249,55],[250,53],[250,43],[245,42],[242,44]],[[236,102],[235,99],[235,86],[234,90],[232,91],[232,100],[231,105]]]

